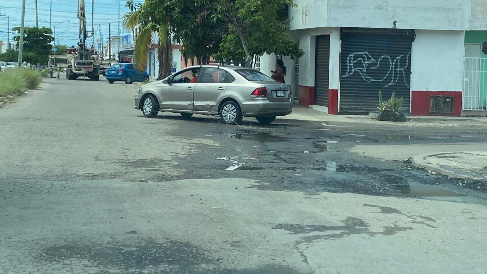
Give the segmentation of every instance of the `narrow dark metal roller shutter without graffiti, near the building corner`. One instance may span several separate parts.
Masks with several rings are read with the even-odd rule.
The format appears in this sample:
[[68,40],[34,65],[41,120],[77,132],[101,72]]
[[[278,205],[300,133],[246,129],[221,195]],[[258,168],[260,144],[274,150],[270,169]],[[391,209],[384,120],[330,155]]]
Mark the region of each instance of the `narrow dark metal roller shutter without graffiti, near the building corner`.
[[330,35],[316,36],[315,104],[328,106],[328,71],[330,68]]

